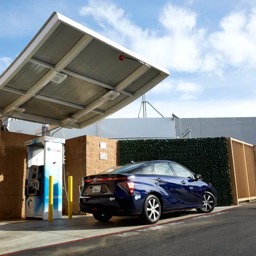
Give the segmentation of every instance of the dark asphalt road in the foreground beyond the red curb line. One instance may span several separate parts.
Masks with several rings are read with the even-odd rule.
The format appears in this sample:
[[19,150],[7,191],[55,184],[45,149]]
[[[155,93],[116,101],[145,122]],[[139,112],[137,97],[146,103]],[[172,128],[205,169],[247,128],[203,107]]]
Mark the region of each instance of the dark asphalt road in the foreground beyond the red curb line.
[[[168,214],[164,218],[172,216]],[[130,232],[33,249],[16,255],[255,256],[256,203]]]

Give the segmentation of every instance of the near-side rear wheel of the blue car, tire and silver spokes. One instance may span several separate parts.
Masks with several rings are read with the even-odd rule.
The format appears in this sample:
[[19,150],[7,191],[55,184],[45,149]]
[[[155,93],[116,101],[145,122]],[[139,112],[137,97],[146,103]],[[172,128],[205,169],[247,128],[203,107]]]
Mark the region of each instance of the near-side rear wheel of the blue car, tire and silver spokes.
[[159,199],[155,195],[148,195],[144,201],[141,219],[145,224],[156,224],[160,220],[162,208]]

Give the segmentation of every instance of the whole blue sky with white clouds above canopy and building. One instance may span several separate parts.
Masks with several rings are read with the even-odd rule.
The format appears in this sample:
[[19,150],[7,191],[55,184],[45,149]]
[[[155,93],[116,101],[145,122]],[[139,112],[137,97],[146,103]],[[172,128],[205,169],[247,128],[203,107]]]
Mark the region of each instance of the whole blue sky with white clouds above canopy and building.
[[164,116],[256,116],[256,0],[0,1],[0,73],[53,11],[168,68],[146,95]]

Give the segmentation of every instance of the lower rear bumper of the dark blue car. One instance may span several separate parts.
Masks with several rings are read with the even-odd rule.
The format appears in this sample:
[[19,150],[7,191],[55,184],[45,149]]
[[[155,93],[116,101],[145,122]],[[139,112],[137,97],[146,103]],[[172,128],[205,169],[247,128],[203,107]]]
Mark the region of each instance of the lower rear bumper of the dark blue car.
[[79,205],[82,212],[111,214],[113,216],[131,216],[139,215],[142,209],[136,209],[132,196],[124,198],[115,197],[87,197],[82,196],[79,199]]

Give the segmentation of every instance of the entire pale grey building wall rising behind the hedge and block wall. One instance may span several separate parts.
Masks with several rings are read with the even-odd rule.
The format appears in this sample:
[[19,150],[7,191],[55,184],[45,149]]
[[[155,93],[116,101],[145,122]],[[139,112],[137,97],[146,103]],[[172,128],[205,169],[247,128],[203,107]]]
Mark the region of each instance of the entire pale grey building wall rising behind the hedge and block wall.
[[[176,123],[176,124],[175,124]],[[9,130],[34,134],[41,124],[26,121],[10,121]],[[63,128],[54,137],[73,138],[84,135],[113,139],[175,138],[181,137],[188,127],[192,138],[233,137],[250,144],[256,144],[256,117],[240,118],[120,118],[104,119],[82,130]],[[175,131],[176,130],[176,131]],[[54,131],[53,131],[54,132]]]

